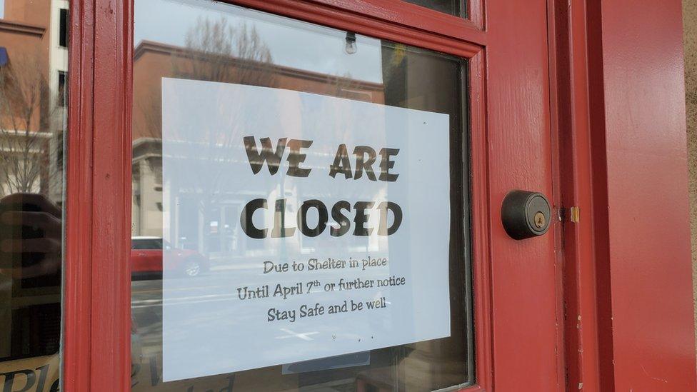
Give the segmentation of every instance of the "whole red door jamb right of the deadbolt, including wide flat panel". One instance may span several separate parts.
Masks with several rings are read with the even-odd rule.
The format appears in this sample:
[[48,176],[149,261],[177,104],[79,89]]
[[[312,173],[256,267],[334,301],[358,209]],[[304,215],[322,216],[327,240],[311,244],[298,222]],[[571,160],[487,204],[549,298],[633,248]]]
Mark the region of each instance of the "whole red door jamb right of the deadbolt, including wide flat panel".
[[568,388],[696,391],[681,1],[551,9]]

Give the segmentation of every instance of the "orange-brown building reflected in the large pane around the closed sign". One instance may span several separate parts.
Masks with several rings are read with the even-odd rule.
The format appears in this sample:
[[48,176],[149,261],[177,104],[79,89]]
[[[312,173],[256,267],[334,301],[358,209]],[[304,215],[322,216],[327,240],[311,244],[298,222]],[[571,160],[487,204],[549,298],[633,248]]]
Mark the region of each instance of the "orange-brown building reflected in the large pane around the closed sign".
[[[209,72],[213,68],[216,72]],[[384,103],[382,84],[319,74],[270,62],[229,57],[221,59],[220,56],[202,55],[177,46],[141,42],[134,53],[134,194],[131,231],[134,236],[162,235],[160,81],[163,77],[211,80],[209,76],[213,73],[224,74],[219,79],[212,79],[213,81],[271,86]],[[199,208],[187,206],[186,203],[184,199],[179,200],[177,206],[181,208],[181,212],[174,213],[199,211]],[[236,250],[238,246],[243,246],[248,251],[261,251],[262,249],[249,248],[248,244],[234,239],[242,238],[230,229],[237,226],[234,222],[239,221],[241,208],[240,203],[231,202],[214,211],[201,211],[194,219],[199,221],[197,227],[180,228],[177,238],[169,239],[176,247],[194,248],[202,253],[226,253]],[[202,238],[207,238],[206,243],[201,241]]]

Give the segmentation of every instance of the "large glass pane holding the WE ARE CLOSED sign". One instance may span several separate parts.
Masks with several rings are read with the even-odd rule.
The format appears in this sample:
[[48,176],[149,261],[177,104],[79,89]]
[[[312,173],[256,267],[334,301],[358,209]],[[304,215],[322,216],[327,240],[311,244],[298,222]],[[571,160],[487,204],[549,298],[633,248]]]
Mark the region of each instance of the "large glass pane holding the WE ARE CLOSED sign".
[[[466,61],[216,1],[136,0],[134,11],[134,224],[131,236],[134,246],[138,238],[144,237],[164,238],[168,246],[162,255],[154,255],[151,259],[142,252],[131,253],[134,271],[152,272],[159,268],[161,272],[154,278],[134,279],[131,283],[132,390],[431,391],[472,383]],[[185,90],[189,92],[183,92]],[[230,95],[229,91],[244,91],[244,94]],[[423,124],[413,124],[413,119],[417,118],[413,116],[425,116]],[[398,130],[396,124],[402,124],[401,121],[412,122],[408,126],[405,123],[401,131],[383,134],[379,126],[356,127],[356,121],[366,118],[372,121],[369,124],[388,122]],[[219,119],[229,121],[216,123]],[[440,192],[431,190],[428,197],[420,196],[423,195],[423,189],[418,190],[421,182],[411,179],[406,171],[399,171],[401,178],[396,181],[392,181],[395,178],[391,176],[396,174],[397,168],[406,167],[405,161],[396,159],[408,156],[408,151],[418,149],[418,144],[405,144],[406,147],[398,152],[381,149],[397,140],[412,140],[408,139],[412,133],[419,134],[413,126],[425,126],[424,129],[434,131],[435,128],[426,124],[426,119],[442,120],[438,123],[442,125],[439,137],[448,140],[441,144],[443,154],[434,158],[442,159],[438,162],[443,164],[433,168],[433,177],[443,179],[445,188]],[[248,144],[242,144],[241,132],[254,134],[267,126],[271,131],[274,128],[271,125],[295,136],[287,141],[248,139]],[[347,143],[346,154],[340,152],[341,146],[334,151],[317,151],[308,143],[303,144],[301,136],[311,127],[326,129],[326,132],[318,131],[313,148],[322,149],[321,137],[339,140],[340,136],[345,136],[351,141],[350,145]],[[184,141],[181,138],[185,133],[196,140]],[[420,135],[425,135],[426,144],[430,143],[431,139],[426,137],[428,132]],[[367,145],[368,140],[376,138],[385,145],[374,149]],[[365,141],[366,146],[360,146],[360,141]],[[354,149],[354,146],[360,148]],[[297,170],[291,176],[288,164],[273,163],[274,154],[282,156],[284,161],[289,156],[288,150],[283,152],[284,148],[311,151],[305,156],[296,156]],[[240,166],[236,161],[238,153],[247,166]],[[245,154],[257,155],[254,158]],[[262,155],[265,158],[261,158]],[[306,191],[291,186],[295,181],[293,176],[301,178],[308,174],[308,178],[315,178],[318,172],[329,174],[321,171],[326,169],[314,166],[314,162],[335,158],[338,163],[333,166],[336,172],[331,178],[336,180],[336,187]],[[390,163],[391,160],[395,162]],[[346,161],[356,167],[348,169]],[[260,177],[251,178],[255,169],[253,166],[250,171],[250,165],[255,162],[259,164]],[[410,167],[416,172],[429,166],[414,160]],[[312,173],[304,171],[307,169]],[[272,174],[276,171],[279,176],[284,175],[282,184],[271,191],[259,191],[276,181],[278,177]],[[238,175],[243,172],[244,176]],[[326,332],[322,329],[331,318],[324,315],[324,318],[316,318],[316,322],[304,324],[316,326],[316,331],[304,331],[296,328],[300,323],[282,321],[276,336],[269,338],[271,343],[259,346],[258,352],[244,351],[241,348],[244,340],[256,341],[266,333],[266,326],[251,331],[244,325],[246,321],[256,321],[251,320],[254,312],[249,313],[241,303],[241,293],[255,291],[249,295],[259,296],[259,302],[250,306],[257,310],[266,306],[269,314],[274,313],[271,307],[295,299],[286,301],[273,298],[271,294],[266,298],[264,288],[248,287],[247,290],[236,282],[247,279],[251,286],[252,282],[264,278],[262,268],[268,266],[265,261],[277,262],[279,265],[275,268],[282,270],[281,261],[290,254],[306,257],[308,265],[314,257],[326,258],[327,253],[322,253],[326,251],[323,241],[331,240],[330,232],[348,233],[343,237],[337,234],[337,243],[342,244],[337,251],[362,255],[368,264],[365,268],[371,268],[371,263],[378,266],[376,272],[356,272],[355,276],[363,282],[399,283],[400,278],[391,276],[390,272],[402,267],[385,266],[387,261],[375,259],[390,244],[393,247],[388,254],[396,254],[392,253],[396,245],[391,242],[394,237],[388,236],[389,229],[385,227],[382,233],[385,238],[378,238],[377,233],[372,236],[368,233],[363,240],[356,236],[362,235],[361,228],[365,228],[366,233],[370,231],[368,226],[371,225],[378,228],[376,232],[381,231],[381,224],[393,228],[400,219],[406,222],[403,227],[407,227],[414,212],[400,212],[387,204],[371,209],[367,204],[354,203],[351,198],[347,198],[351,200],[351,203],[346,202],[348,206],[341,204],[336,192],[350,186],[349,178],[354,181],[351,184],[363,184],[366,189],[381,190],[379,192],[398,189],[382,185],[392,181],[403,186],[401,200],[405,203],[429,206],[431,201],[433,216],[444,214],[443,221],[449,222],[444,228],[438,228],[444,230],[444,235],[437,238],[443,246],[433,249],[433,254],[443,253],[442,263],[440,259],[423,257],[410,264],[418,271],[426,271],[423,275],[430,275],[429,268],[435,269],[436,264],[441,263],[441,284],[426,286],[425,291],[445,293],[442,301],[421,308],[407,306],[401,316],[394,315],[403,316],[403,325],[386,318],[376,318],[381,321],[375,322],[365,318],[366,323],[359,325],[358,316],[346,318],[347,323],[355,323],[356,328],[363,331],[356,334],[355,346],[370,346],[369,340],[374,336],[365,331],[397,335],[412,327],[418,329],[416,326],[420,324],[413,321],[419,314],[414,309],[443,309],[448,316],[438,321],[438,326],[448,332],[437,338],[376,344],[368,349],[349,349],[317,357],[315,353],[324,352],[324,347],[318,347],[316,342],[326,338],[327,345],[331,344],[331,338],[323,335]],[[346,182],[341,182],[344,179]],[[427,182],[428,179],[423,179],[423,184]],[[296,202],[297,195],[303,193],[311,195],[314,201]],[[392,191],[394,197],[390,200],[397,200],[397,193]],[[272,195],[275,201],[271,200]],[[388,196],[370,195],[376,200]],[[264,204],[267,199],[268,203]],[[252,200],[259,201],[259,206],[265,205],[258,207],[258,211],[268,213],[249,213]],[[346,208],[343,212],[341,208],[330,211],[336,205]],[[373,218],[366,218],[371,223],[360,222],[361,213],[355,211],[356,206],[363,211],[371,209]],[[382,211],[384,221],[378,218]],[[350,219],[339,223],[341,214]],[[264,231],[261,226],[266,221],[262,215],[271,219],[271,225],[283,228]],[[426,226],[428,211],[424,211],[421,219]],[[346,225],[351,226],[350,231],[343,229]],[[268,238],[250,236],[252,226],[259,228],[259,236]],[[424,228],[418,230],[422,232]],[[294,234],[291,235],[291,231]],[[404,231],[398,233],[405,235]],[[419,251],[428,247],[418,236],[411,241],[418,245]],[[322,268],[331,269],[330,266],[339,268],[333,261],[327,261]],[[275,270],[273,266],[269,268]],[[336,271],[326,272],[329,275],[322,275],[323,285],[333,278],[339,281]],[[354,278],[352,281],[356,282]],[[311,282],[301,283],[304,290],[314,287]],[[360,284],[353,283],[352,288]],[[369,291],[371,295],[388,293],[376,296],[371,306],[418,302],[418,293],[399,290]],[[304,295],[309,298],[308,303],[314,304],[334,293],[314,294],[311,291]],[[401,304],[388,304],[381,298],[389,295],[388,298],[399,297]],[[336,311],[341,311],[341,306]],[[254,315],[259,316],[258,312]],[[176,317],[176,323],[171,317]],[[285,316],[279,314],[278,317],[281,320]],[[335,336],[334,340],[345,338],[345,335]],[[202,343],[194,344],[186,355],[173,358],[172,353],[181,346],[167,344],[181,343],[182,338]],[[378,338],[387,341],[384,334]],[[368,342],[361,339],[368,339]],[[239,346],[234,346],[232,340],[239,342]],[[296,348],[296,352],[289,352],[289,347]],[[281,356],[304,358],[304,351],[308,351],[306,360],[278,359]],[[223,359],[211,361],[211,358]],[[249,365],[251,363],[264,365]],[[238,370],[225,370],[231,366]],[[177,370],[172,371],[174,368]],[[209,376],[190,376],[194,374]]]

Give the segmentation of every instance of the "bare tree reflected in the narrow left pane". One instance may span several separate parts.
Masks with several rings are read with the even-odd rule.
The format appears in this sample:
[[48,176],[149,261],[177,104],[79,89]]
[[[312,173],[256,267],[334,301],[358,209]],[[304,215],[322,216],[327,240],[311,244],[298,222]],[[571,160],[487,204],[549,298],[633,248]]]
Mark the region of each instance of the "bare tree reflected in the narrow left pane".
[[49,167],[49,121],[49,86],[39,56],[19,56],[0,68],[2,194],[43,187],[41,179]]

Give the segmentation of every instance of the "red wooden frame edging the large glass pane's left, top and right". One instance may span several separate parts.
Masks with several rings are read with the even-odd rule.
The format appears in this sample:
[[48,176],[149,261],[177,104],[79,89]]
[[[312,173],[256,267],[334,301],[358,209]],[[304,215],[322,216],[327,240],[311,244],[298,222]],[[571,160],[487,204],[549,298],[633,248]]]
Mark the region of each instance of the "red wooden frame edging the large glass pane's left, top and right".
[[[458,391],[490,390],[483,0],[466,0],[469,19],[398,0],[223,1],[468,60],[475,384]],[[93,0],[71,6],[66,191],[81,198],[66,200],[61,388],[125,391],[131,383],[131,217],[124,211],[131,208],[133,2]]]

